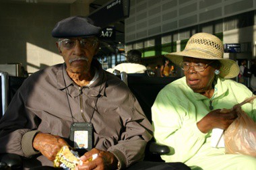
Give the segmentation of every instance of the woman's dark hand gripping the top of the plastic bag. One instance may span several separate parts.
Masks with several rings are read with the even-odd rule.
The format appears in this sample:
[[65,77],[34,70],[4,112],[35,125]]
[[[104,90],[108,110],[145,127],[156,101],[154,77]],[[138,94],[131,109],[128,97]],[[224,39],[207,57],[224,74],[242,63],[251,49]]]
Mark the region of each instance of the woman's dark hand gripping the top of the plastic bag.
[[237,114],[237,110],[213,110],[197,122],[197,127],[203,133],[207,133],[213,128],[226,130],[237,118]]

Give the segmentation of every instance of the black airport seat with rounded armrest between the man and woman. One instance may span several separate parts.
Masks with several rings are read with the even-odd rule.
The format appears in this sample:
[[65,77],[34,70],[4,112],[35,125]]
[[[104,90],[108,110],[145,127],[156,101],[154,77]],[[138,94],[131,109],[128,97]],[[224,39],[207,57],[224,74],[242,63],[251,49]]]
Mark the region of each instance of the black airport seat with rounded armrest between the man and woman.
[[[159,91],[168,83],[179,79],[180,77],[149,77],[137,76],[133,74],[121,73],[121,79],[128,85],[131,92],[139,101],[141,109],[152,123],[151,107],[154,104]],[[158,144],[154,138],[148,143],[145,153],[146,161],[162,161],[160,155],[171,152],[170,147]]]

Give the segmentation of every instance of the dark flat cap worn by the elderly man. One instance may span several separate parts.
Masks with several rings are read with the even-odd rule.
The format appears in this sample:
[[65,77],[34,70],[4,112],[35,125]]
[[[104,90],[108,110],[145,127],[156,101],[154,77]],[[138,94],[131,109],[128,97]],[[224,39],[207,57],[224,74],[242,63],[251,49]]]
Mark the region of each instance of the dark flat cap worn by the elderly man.
[[94,26],[92,19],[82,16],[67,17],[53,28],[55,38],[99,36],[100,27]]

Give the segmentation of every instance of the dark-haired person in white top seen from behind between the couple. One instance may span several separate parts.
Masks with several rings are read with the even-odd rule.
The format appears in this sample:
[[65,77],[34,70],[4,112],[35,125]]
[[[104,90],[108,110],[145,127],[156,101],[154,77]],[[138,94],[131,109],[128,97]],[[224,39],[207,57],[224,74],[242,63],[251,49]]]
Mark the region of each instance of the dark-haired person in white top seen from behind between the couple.
[[147,68],[141,65],[141,52],[139,50],[129,50],[127,52],[127,62],[123,62],[106,71],[113,73],[115,70],[126,73],[145,73]]

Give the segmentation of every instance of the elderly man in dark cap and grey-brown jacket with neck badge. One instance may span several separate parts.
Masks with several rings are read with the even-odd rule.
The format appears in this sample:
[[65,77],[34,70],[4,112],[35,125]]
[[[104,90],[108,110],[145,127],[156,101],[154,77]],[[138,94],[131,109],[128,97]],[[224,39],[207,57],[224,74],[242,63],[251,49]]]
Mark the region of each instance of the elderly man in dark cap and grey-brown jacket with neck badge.
[[125,83],[94,59],[99,33],[84,17],[57,23],[52,36],[65,63],[24,81],[0,121],[0,153],[30,158],[25,168],[53,167],[65,145],[86,148],[76,169],[125,169],[143,160],[152,127]]

